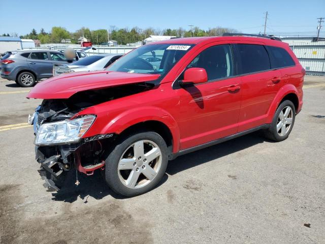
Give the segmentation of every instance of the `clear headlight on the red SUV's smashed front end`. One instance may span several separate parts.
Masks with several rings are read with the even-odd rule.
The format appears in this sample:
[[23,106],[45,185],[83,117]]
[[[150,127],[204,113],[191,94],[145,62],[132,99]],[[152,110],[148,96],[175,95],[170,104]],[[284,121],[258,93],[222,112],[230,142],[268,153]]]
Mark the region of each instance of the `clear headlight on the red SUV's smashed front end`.
[[41,125],[35,137],[35,145],[65,144],[77,142],[95,120],[94,115]]

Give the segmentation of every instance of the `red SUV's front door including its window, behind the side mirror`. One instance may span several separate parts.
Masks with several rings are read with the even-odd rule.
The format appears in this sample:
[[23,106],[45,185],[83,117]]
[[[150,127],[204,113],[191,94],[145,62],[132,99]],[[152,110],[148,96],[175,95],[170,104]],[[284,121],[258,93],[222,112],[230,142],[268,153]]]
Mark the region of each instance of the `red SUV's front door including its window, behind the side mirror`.
[[234,77],[231,45],[210,44],[196,55],[186,68],[206,69],[208,82],[176,88],[180,98],[181,149],[233,135],[238,130],[241,79]]

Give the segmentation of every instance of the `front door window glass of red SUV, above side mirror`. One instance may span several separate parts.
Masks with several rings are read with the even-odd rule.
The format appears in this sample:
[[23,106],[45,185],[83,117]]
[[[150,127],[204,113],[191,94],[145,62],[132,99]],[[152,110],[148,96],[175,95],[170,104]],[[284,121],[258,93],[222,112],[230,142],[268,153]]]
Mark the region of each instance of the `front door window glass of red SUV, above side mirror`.
[[188,68],[204,68],[208,81],[234,75],[232,51],[230,45],[217,45],[203,50],[187,66]]

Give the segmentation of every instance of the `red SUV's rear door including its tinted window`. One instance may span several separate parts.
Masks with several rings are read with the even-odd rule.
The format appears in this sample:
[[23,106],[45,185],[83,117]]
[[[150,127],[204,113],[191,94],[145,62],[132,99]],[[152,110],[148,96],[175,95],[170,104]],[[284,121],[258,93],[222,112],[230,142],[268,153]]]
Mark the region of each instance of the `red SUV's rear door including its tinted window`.
[[242,81],[242,106],[238,132],[266,124],[267,113],[279,88],[281,73],[272,70],[266,48],[257,44],[236,44]]

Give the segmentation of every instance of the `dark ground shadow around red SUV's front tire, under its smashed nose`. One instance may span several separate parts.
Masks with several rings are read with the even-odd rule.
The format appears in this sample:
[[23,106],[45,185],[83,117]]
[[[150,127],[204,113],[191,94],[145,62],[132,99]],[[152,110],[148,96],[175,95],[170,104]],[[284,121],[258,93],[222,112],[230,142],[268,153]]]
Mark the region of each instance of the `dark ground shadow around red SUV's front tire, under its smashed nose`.
[[[159,182],[156,186],[159,187],[168,179],[168,175],[165,174],[163,180]],[[78,173],[78,180],[80,185],[76,186],[76,174],[74,173],[71,177],[68,177],[66,182],[64,182],[64,187],[61,190],[52,193],[52,200],[63,201],[63,202],[74,202],[81,198],[84,203],[87,203],[88,197],[93,197],[94,199],[102,199],[108,195],[111,195],[115,199],[125,199],[128,197],[123,197],[121,195],[113,192],[105,182],[105,179],[101,175],[99,170],[95,171],[93,175],[85,175],[83,173]]]

